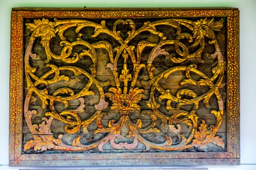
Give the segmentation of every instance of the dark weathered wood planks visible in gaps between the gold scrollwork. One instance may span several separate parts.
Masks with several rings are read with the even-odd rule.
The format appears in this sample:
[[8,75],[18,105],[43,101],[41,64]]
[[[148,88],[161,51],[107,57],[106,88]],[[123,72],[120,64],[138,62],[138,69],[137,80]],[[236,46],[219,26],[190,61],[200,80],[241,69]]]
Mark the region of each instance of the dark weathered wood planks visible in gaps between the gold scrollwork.
[[[25,23],[33,23],[35,18],[24,18],[24,51],[26,50],[27,44],[29,42],[29,38],[31,36],[31,32],[28,30],[28,28],[26,28]],[[40,18],[39,18],[40,19]],[[50,21],[54,21],[53,18],[48,18]],[[146,21],[156,21],[156,20],[160,20],[162,18],[132,18],[135,23],[136,23],[136,27],[139,28],[143,25],[144,22]],[[195,17],[195,18],[187,18],[190,20],[194,20],[197,21],[199,19],[201,19],[201,17]],[[219,20],[219,17],[215,18],[216,20]],[[96,18],[92,18],[91,20],[93,20],[94,22],[98,22],[100,23],[100,21],[102,19],[96,19]],[[112,29],[113,27],[113,23],[114,21],[116,21],[116,19],[104,19],[106,20],[106,26],[110,29]],[[64,36],[67,38],[67,40],[69,42],[73,42],[76,40],[77,38],[77,34],[75,33],[75,27],[72,27],[70,29],[68,29],[67,31],[65,31]],[[118,25],[117,27],[118,30],[121,30],[121,37],[125,38],[127,37],[127,31],[129,31],[129,27],[127,25]],[[166,35],[167,39],[175,39],[176,37],[176,30],[170,26],[159,26],[157,27],[157,30],[159,30],[160,32],[162,32],[163,34]],[[111,36],[107,35],[107,34],[101,34],[100,36],[97,37],[92,37],[91,35],[94,32],[94,28],[92,27],[85,27],[82,30],[80,30],[80,33],[82,34],[82,39],[88,41],[89,43],[95,43],[98,42],[99,40],[106,40],[108,42],[110,42],[110,44],[112,45],[113,49],[114,47],[119,46],[119,42],[118,40],[113,39]],[[182,27],[182,32],[190,32],[190,30],[188,30],[185,27]],[[216,32],[216,39],[217,42],[219,44],[220,50],[222,52],[222,55],[225,57],[226,56],[226,23],[224,22],[224,27],[221,29],[220,32]],[[149,32],[143,32],[141,34],[139,34],[138,36],[136,36],[133,40],[131,40],[128,45],[134,45],[136,46],[137,43],[140,40],[148,40],[151,42],[158,42],[159,41],[159,37],[151,34]],[[196,64],[197,65],[197,69],[201,70],[202,72],[204,72],[207,76],[211,77],[213,75],[211,67],[214,65],[214,63],[216,62],[216,59],[213,59],[211,57],[211,54],[213,54],[215,52],[215,48],[212,44],[209,44],[209,40],[210,39],[205,39],[205,49],[202,53],[201,59],[199,58],[192,58],[192,59],[187,59],[186,61],[182,62],[182,63],[174,63],[171,60],[169,60],[168,58],[165,58],[164,55],[160,55],[158,56],[155,60],[154,60],[154,66],[156,68],[156,70],[154,71],[154,75],[157,75],[158,73],[168,69],[168,68],[172,68],[175,66],[188,66],[190,64]],[[41,43],[40,43],[40,38],[36,38],[35,39],[35,43],[33,45],[33,53],[37,54],[37,57],[35,58],[30,58],[30,66],[31,67],[35,67],[37,68],[35,74],[37,76],[41,76],[43,75],[45,72],[49,71],[50,68],[46,67],[46,63],[44,62],[44,60],[46,59],[46,54],[44,51],[44,48],[42,47]],[[53,37],[50,43],[50,48],[51,50],[56,53],[56,54],[60,54],[60,51],[62,49],[62,47],[59,46],[59,42],[60,39],[59,37]],[[189,45],[187,39],[181,40],[181,42],[183,42],[186,45]],[[166,51],[170,52],[174,51],[173,46],[164,46],[164,48],[166,49]],[[76,46],[73,49],[73,53],[77,52],[81,52],[82,50],[87,50],[86,48],[84,48],[83,46]],[[142,57],[141,57],[141,63],[147,65],[147,57],[149,55],[149,52],[152,50],[151,47],[146,47],[142,53]],[[197,48],[190,48],[190,53],[192,53],[193,51],[197,51]],[[102,49],[97,49],[96,50],[97,54],[98,54],[98,67],[97,67],[97,75],[96,75],[96,79],[98,79],[98,81],[100,82],[106,82],[109,81],[109,85],[106,85],[103,87],[104,92],[107,92],[109,87],[115,87],[115,81],[114,81],[114,77],[113,77],[113,73],[110,70],[110,68],[107,68],[107,64],[110,63],[109,60],[109,56],[107,51],[102,50]],[[113,54],[115,56],[116,51],[113,50]],[[53,59],[50,61],[52,64],[55,64],[56,66],[60,67],[60,66],[65,66],[67,65],[67,63],[61,61],[61,60],[57,60],[57,59]],[[128,59],[128,69],[131,72],[133,72],[133,65],[131,60]],[[224,62],[226,62],[226,58],[224,59]],[[86,70],[87,72],[91,72],[90,71],[90,66],[92,65],[92,61],[89,57],[83,57],[81,58],[77,63],[74,64],[68,64],[68,65],[72,65],[72,66],[76,66],[79,68],[83,68],[84,70]],[[118,73],[121,73],[122,70],[122,66],[123,66],[123,59],[122,57],[119,58],[118,60]],[[226,70],[226,68],[225,68]],[[48,93],[49,94],[53,94],[58,88],[60,87],[70,87],[74,90],[75,93],[79,92],[84,85],[89,81],[88,78],[86,76],[75,76],[73,72],[71,71],[61,71],[60,72],[62,75],[66,75],[70,78],[69,82],[66,81],[59,81],[57,83],[51,84],[51,85],[43,85],[40,84],[37,86],[38,89],[44,89],[47,88]],[[196,74],[192,74],[193,78],[195,79],[199,79],[200,77]],[[24,87],[27,87],[27,82],[26,82],[26,78],[24,77]],[[53,77],[53,75],[52,75]],[[51,76],[48,77],[48,79],[50,79]],[[184,72],[182,71],[177,71],[175,75],[171,75],[168,78],[163,78],[160,82],[159,82],[159,86],[161,86],[164,90],[169,89],[172,93],[177,93],[178,89],[180,89],[182,86],[179,85],[179,82],[185,78]],[[140,87],[143,88],[145,90],[144,94],[145,97],[139,102],[139,105],[141,107],[141,111],[143,110],[150,110],[150,108],[146,105],[146,101],[149,99],[149,92],[151,89],[150,85],[146,85],[146,81],[148,81],[149,78],[149,74],[146,70],[146,68],[142,68],[139,75],[138,75],[138,81],[136,83],[136,87]],[[226,106],[226,72],[223,78],[223,82],[222,82],[222,86],[219,87],[219,91],[221,93],[221,96],[223,98],[223,102],[224,102],[224,106]],[[207,90],[209,90],[209,87],[207,86],[199,86],[199,85],[184,85],[184,88],[190,88],[193,89],[197,95],[203,94],[205,93]],[[84,108],[84,112],[79,113],[79,116],[82,120],[89,118],[95,111],[95,104],[98,104],[99,102],[99,93],[97,90],[97,87],[95,85],[92,85],[90,87],[90,90],[92,90],[95,93],[95,96],[86,96],[84,97],[85,99],[85,108]],[[27,89],[24,88],[24,98],[25,95],[27,93]],[[158,101],[158,97],[159,97],[159,93],[155,94],[155,99]],[[110,112],[110,107],[112,105],[112,102],[108,99],[105,98],[106,102],[109,102],[109,106],[105,109],[102,110],[102,112]],[[159,110],[170,116],[171,113],[168,112],[168,110],[166,110],[165,108],[165,101],[159,102],[160,103],[160,108]],[[217,99],[215,97],[212,97],[210,99],[210,108],[206,108],[204,106],[204,104],[202,102],[200,102],[199,104],[199,108],[197,110],[197,115],[199,116],[199,119],[204,119],[206,121],[206,123],[208,125],[211,124],[215,124],[216,123],[216,118],[213,114],[210,114],[210,111],[213,109],[218,109],[218,103],[217,103]],[[75,109],[79,106],[80,102],[78,100],[72,100],[69,101],[69,107],[65,108],[63,103],[61,102],[55,102],[55,109],[57,112],[61,112],[65,109]],[[30,110],[37,110],[38,114],[33,115],[31,121],[33,124],[39,124],[42,122],[42,118],[44,117],[45,112],[50,111],[49,107],[46,108],[42,108],[41,107],[42,103],[39,99],[39,97],[33,93],[32,94],[32,100],[30,102],[29,105],[29,109]],[[190,111],[192,109],[193,105],[185,105],[182,106],[183,110],[187,110]],[[133,111],[131,111],[133,112]],[[147,127],[148,125],[150,125],[150,123],[152,122],[152,119],[150,117],[142,117],[139,114],[136,113],[131,113],[129,115],[130,119],[132,121],[136,121],[138,118],[142,120],[142,124],[144,127]],[[104,117],[102,119],[102,124],[104,126],[108,126],[108,122],[111,119],[115,119],[115,121],[118,121],[118,119],[120,118],[120,115],[118,113],[111,113],[108,114],[106,117]],[[148,133],[148,134],[141,134],[144,138],[146,138],[149,141],[152,142],[156,142],[156,143],[161,143],[164,141],[165,139],[165,135],[171,136],[172,140],[173,140],[173,144],[178,144],[181,141],[181,137],[180,134],[184,134],[185,136],[189,136],[192,130],[192,127],[187,126],[184,123],[181,123],[181,129],[182,131],[179,132],[178,134],[175,134],[173,132],[170,131],[170,129],[167,129],[166,127],[161,127],[161,121],[160,119],[158,119],[157,121],[157,125],[156,127],[158,127],[159,129],[161,129],[160,133]],[[81,143],[82,144],[89,144],[89,143],[93,143],[95,141],[100,140],[101,138],[103,138],[104,136],[106,136],[106,133],[98,133],[98,134],[94,134],[93,132],[98,128],[96,121],[93,121],[91,123],[91,125],[88,127],[88,133],[83,134],[82,130],[79,130],[77,133],[75,134],[67,134],[64,130],[64,126],[65,123],[55,119],[52,123],[51,126],[51,131],[52,133],[54,133],[54,136],[57,138],[59,136],[59,134],[63,134],[64,137],[63,142],[71,145],[72,141],[74,140],[74,138],[76,138],[78,135],[82,136],[81,139]],[[199,147],[199,148],[189,148],[189,149],[185,149],[185,150],[181,150],[178,152],[225,152],[227,150],[227,139],[226,139],[226,108],[224,108],[224,116],[223,116],[223,121],[221,126],[219,127],[216,135],[220,136],[221,138],[223,138],[223,141],[225,143],[224,148],[220,148],[217,145],[214,145],[212,143],[209,143],[207,146],[204,147]],[[123,129],[123,132],[121,132],[122,135],[127,135],[127,129]],[[29,140],[33,139],[33,136],[26,124],[25,119],[23,119],[23,128],[22,128],[22,136],[23,136],[23,145],[28,142]],[[122,137],[120,139],[116,140],[117,143],[119,142],[128,142],[131,143],[133,142],[131,139],[126,138],[126,137]],[[98,153],[98,149],[92,149],[89,151],[86,151],[85,153]],[[146,152],[145,151],[145,146],[142,143],[139,143],[137,148],[135,150],[127,150],[127,149],[113,149],[113,147],[110,146],[109,143],[107,143],[106,145],[104,145],[104,151],[103,153],[143,153]],[[166,151],[161,151],[161,150],[157,150],[157,149],[150,149],[147,152],[166,152]],[[177,151],[176,151],[177,152]],[[33,149],[29,149],[27,151],[22,151],[22,153],[27,154],[27,153],[68,153],[68,151],[56,151],[56,150],[50,150],[50,151],[34,151]],[[81,153],[81,152],[77,152],[77,153]]]

